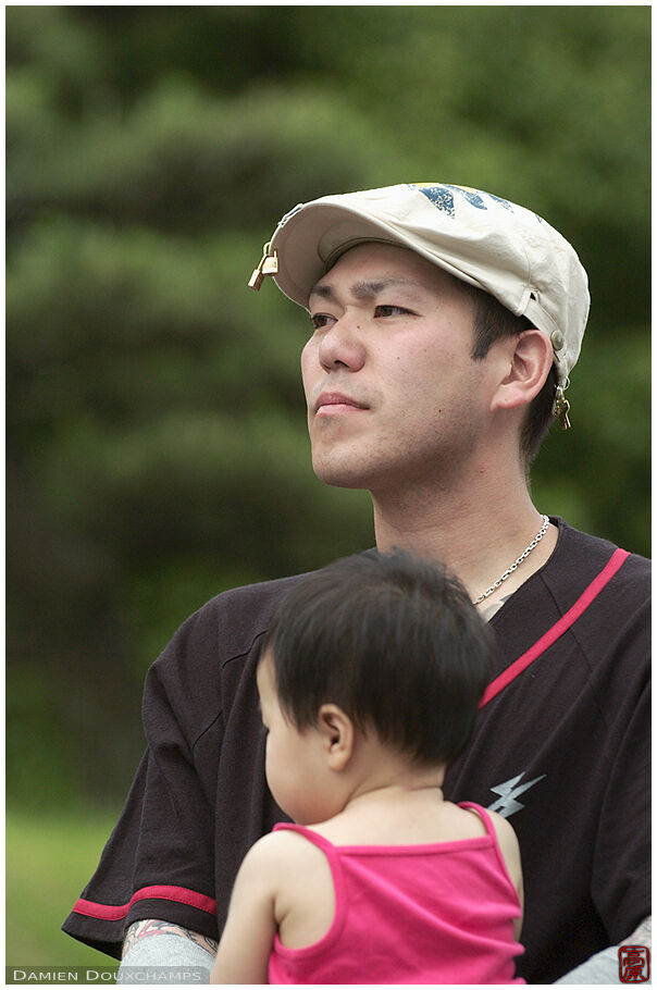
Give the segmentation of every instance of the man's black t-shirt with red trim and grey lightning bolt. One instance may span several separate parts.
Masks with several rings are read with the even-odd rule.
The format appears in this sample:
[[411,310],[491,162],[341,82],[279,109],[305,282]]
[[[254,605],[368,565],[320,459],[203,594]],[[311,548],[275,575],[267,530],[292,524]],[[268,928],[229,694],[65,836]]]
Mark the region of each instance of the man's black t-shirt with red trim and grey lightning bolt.
[[[492,620],[509,683],[444,788],[516,829],[528,982],[553,982],[650,913],[649,564],[553,521],[550,559]],[[272,610],[302,577],[219,595],[150,668],[148,748],[63,926],[74,938],[119,956],[140,918],[218,938],[244,855],[286,820],[264,781],[255,672]]]

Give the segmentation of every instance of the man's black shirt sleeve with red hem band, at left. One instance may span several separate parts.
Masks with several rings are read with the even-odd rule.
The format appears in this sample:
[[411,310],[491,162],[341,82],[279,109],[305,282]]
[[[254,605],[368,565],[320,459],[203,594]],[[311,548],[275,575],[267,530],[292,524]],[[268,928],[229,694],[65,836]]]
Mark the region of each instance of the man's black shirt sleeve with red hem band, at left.
[[208,676],[219,666],[215,657],[215,623],[201,610],[150,668],[142,705],[147,751],[96,874],[62,926],[116,958],[127,927],[142,918],[218,938],[216,777],[195,760],[201,737],[216,752],[222,742],[219,673],[215,681]]

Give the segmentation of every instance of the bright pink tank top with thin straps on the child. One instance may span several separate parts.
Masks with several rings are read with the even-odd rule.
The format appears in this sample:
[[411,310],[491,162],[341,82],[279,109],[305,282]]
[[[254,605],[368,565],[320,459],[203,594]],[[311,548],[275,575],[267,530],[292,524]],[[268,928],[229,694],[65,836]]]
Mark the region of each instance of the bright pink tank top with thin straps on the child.
[[521,907],[493,824],[475,839],[429,845],[342,845],[298,825],[331,866],[335,915],[313,945],[278,936],[270,983],[523,983],[513,938]]

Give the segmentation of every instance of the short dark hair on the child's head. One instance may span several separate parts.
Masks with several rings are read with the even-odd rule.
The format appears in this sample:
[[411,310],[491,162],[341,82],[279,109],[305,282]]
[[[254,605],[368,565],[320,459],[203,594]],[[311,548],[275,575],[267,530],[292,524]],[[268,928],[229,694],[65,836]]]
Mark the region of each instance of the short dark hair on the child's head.
[[493,636],[442,565],[400,550],[345,557],[280,603],[264,643],[297,729],[334,703],[420,765],[461,753],[488,682]]

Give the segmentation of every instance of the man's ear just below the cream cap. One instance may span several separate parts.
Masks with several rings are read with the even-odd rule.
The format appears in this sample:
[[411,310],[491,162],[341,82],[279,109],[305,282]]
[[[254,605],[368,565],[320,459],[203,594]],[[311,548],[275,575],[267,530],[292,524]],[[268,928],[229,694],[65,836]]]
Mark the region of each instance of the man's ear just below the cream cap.
[[493,396],[491,410],[529,406],[549,374],[553,346],[540,330],[523,330],[516,337],[496,342],[506,370]]

